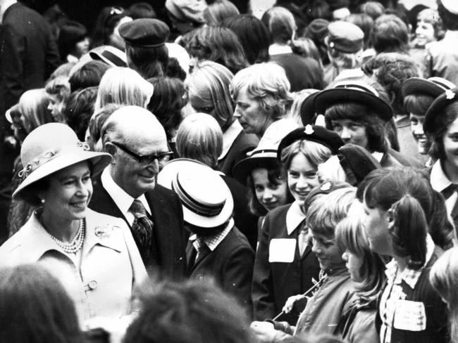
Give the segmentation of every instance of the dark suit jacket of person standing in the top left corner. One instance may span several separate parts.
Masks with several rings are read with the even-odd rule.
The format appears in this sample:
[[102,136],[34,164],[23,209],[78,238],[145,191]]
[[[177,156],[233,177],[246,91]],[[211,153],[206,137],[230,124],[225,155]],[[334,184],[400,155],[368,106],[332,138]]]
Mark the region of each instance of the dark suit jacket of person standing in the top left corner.
[[24,91],[43,87],[59,62],[56,40],[44,18],[19,3],[9,7],[0,27],[1,134],[9,127],[5,111]]

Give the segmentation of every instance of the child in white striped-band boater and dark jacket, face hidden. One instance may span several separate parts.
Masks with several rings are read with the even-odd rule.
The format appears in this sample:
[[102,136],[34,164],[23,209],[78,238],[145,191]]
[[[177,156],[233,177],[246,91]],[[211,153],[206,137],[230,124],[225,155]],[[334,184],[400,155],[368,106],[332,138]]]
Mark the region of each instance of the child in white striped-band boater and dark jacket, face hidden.
[[158,176],[161,186],[175,190],[182,202],[190,278],[215,280],[252,310],[254,251],[235,227],[234,201],[218,172],[185,158],[168,162]]

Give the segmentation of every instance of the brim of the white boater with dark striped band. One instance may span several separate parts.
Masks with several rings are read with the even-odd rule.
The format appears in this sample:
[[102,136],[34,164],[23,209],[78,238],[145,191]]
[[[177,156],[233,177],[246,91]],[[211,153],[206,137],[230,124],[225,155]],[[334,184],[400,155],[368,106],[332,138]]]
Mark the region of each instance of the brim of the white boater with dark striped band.
[[[189,170],[190,168],[200,168],[209,169],[213,171],[209,166],[203,164],[196,160],[191,160],[188,158],[177,158],[168,162],[163,169],[159,172],[157,176],[157,183],[159,185],[166,187],[172,190],[172,182],[176,178],[178,172]],[[215,173],[217,171],[214,171]],[[234,210],[234,200],[232,193],[228,186],[225,186],[226,191],[226,201],[224,203],[223,209],[216,216],[203,216],[193,212],[191,209],[187,208],[185,205],[182,205],[183,209],[183,218],[185,221],[191,225],[199,226],[200,228],[215,228],[216,226],[221,226],[225,224],[226,221],[230,219],[233,215]]]

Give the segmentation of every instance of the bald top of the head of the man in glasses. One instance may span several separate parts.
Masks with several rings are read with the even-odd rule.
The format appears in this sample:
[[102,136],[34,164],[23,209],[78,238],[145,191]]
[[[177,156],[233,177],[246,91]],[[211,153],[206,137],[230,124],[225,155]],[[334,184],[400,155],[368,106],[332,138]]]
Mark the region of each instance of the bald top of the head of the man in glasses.
[[138,141],[167,143],[166,131],[149,110],[139,106],[125,106],[113,112],[102,128],[103,143],[113,139],[130,145]]

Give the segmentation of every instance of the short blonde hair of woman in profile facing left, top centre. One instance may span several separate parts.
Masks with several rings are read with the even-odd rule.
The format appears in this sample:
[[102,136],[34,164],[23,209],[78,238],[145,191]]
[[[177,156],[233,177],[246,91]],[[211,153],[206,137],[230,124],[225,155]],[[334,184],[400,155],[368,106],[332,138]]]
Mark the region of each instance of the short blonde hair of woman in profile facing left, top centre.
[[234,101],[242,89],[274,120],[285,117],[292,104],[291,84],[283,67],[275,63],[257,63],[237,72],[230,84]]

